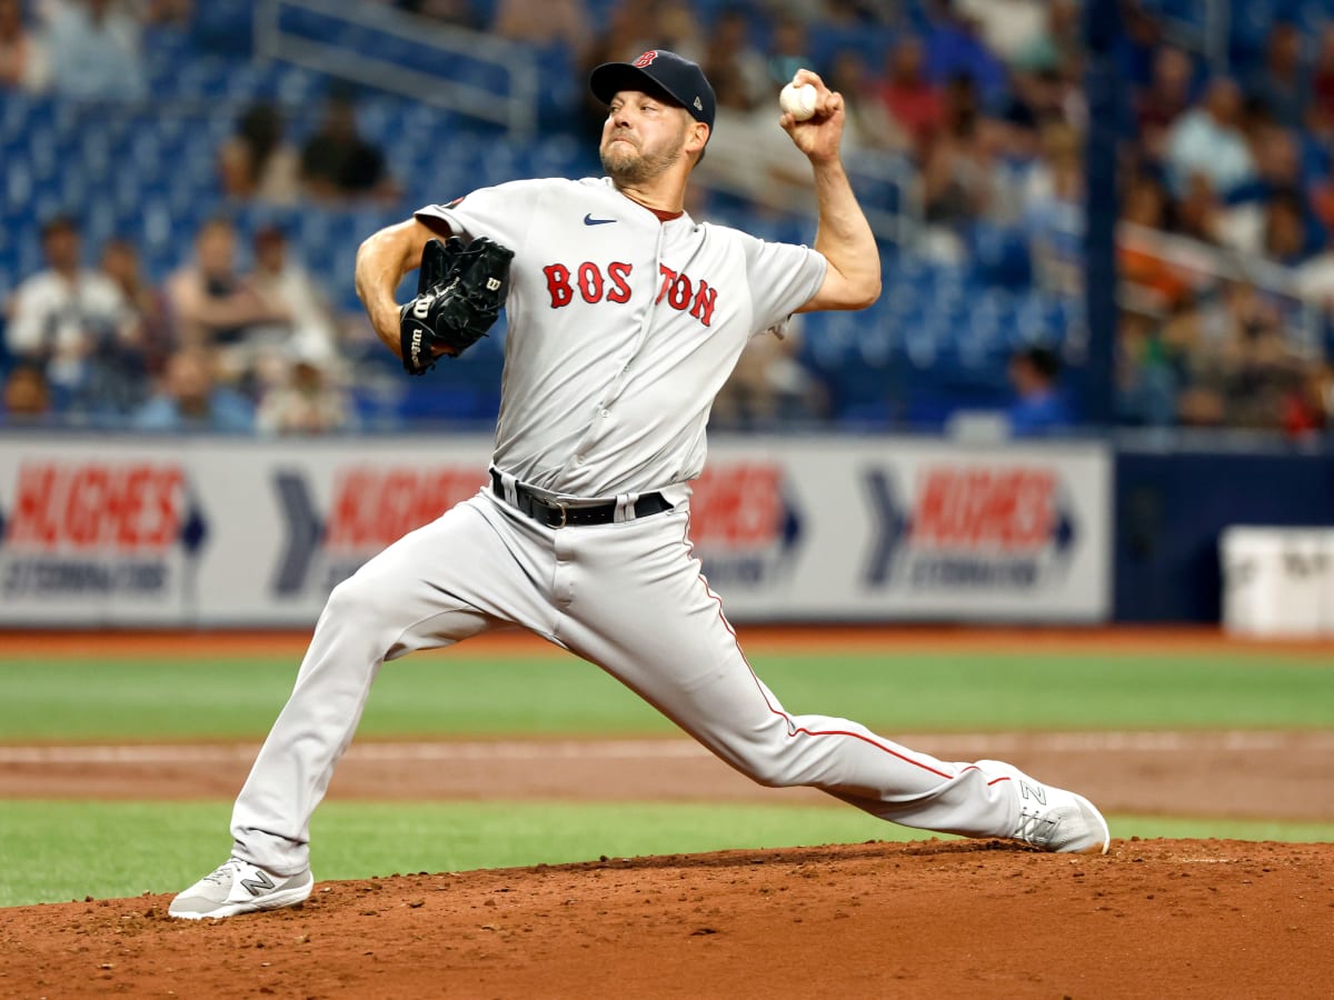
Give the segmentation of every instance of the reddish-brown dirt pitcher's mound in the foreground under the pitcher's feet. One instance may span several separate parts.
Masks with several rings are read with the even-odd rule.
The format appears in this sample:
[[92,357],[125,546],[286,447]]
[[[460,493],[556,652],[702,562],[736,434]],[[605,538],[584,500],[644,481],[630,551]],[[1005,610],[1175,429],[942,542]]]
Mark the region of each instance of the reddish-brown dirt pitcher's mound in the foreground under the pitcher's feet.
[[1334,848],[859,844],[396,875],[189,924],[25,907],[0,996],[1323,997]]

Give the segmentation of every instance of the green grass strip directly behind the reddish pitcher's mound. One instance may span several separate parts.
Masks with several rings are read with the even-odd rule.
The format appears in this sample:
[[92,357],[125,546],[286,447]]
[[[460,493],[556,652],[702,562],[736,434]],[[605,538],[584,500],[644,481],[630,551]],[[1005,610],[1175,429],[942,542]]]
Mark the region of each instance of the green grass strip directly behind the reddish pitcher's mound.
[[[0,811],[0,905],[175,892],[231,847],[229,803],[11,800]],[[1334,823],[1111,817],[1117,837],[1331,840]],[[320,880],[588,861],[600,855],[922,840],[846,807],[656,803],[346,803],[320,807]]]

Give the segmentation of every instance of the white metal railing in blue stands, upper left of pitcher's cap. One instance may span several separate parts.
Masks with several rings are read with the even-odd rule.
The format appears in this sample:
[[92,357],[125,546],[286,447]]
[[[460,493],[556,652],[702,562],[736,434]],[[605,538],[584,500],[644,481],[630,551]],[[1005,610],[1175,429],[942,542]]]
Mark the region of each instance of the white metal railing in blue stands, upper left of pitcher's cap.
[[[402,67],[368,52],[355,52],[296,32],[284,31],[284,9],[308,13],[366,28],[380,35],[435,49],[440,65],[460,60],[499,68],[508,92],[494,92],[447,73]],[[515,137],[536,129],[538,68],[532,53],[494,35],[440,24],[403,13],[384,4],[347,0],[261,0],[255,11],[255,55],[315,69],[329,76],[376,87],[447,111],[504,125]]]

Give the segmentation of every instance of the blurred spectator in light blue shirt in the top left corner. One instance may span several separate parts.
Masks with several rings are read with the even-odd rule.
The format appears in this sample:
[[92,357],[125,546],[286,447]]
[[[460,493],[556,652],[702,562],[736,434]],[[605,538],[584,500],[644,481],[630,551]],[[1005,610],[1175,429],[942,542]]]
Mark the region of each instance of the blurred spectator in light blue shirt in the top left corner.
[[47,24],[52,85],[61,97],[140,100],[148,83],[139,21],[112,0],[65,0]]

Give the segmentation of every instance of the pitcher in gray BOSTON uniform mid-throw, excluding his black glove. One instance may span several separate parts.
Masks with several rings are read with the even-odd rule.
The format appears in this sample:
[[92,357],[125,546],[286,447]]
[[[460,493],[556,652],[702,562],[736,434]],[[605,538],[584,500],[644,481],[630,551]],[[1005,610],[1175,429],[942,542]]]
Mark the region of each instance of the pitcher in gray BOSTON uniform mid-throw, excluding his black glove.
[[839,159],[843,99],[808,71],[812,117],[780,125],[811,163],[814,248],[683,211],[714,92],[650,51],[599,67],[600,180],[528,180],[431,205],[371,236],[358,292],[402,352],[395,289],[427,241],[514,251],[490,483],[390,545],[332,595],[291,700],[232,815],[232,857],[180,893],[179,917],[288,907],[313,884],[309,817],[386,660],[522,625],[590,660],[764,785],[812,785],[930,831],[1105,852],[1082,796],[1002,761],[948,763],[843,719],[788,713],[755,676],[691,553],[690,480],[714,396],[746,340],[811,309],[859,309],[879,252]]

